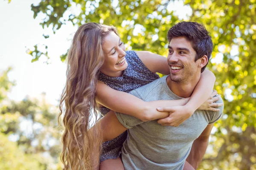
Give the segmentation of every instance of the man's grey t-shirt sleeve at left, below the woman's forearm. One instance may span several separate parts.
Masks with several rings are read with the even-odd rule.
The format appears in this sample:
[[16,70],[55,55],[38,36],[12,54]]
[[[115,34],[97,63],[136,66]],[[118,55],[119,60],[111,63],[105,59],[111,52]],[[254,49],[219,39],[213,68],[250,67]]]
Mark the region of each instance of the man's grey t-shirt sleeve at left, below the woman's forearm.
[[[142,97],[137,93],[136,90],[133,90],[130,92],[130,94],[138,97],[139,99],[142,99]],[[132,107],[132,106],[131,106]],[[127,115],[127,114],[123,114],[123,113],[119,113],[119,112],[116,112],[116,117],[117,119],[119,120],[119,122],[126,128],[130,129],[136,125],[139,125],[141,123],[143,123],[142,120],[140,119],[137,119],[136,117],[134,116],[130,116],[130,115]]]

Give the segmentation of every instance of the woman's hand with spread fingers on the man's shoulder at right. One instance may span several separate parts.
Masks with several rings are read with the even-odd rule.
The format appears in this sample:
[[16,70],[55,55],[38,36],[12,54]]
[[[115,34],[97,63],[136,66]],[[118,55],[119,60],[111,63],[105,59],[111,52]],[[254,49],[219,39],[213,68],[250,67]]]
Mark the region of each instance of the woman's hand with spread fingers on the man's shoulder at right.
[[[207,99],[207,101],[205,101],[203,103],[203,105],[201,105],[198,110],[205,110],[205,111],[219,111],[218,108],[215,107],[221,107],[223,105],[223,103],[214,103],[216,101],[218,101],[221,96],[217,95],[217,91],[213,91],[211,96]],[[217,95],[217,96],[216,96]]]

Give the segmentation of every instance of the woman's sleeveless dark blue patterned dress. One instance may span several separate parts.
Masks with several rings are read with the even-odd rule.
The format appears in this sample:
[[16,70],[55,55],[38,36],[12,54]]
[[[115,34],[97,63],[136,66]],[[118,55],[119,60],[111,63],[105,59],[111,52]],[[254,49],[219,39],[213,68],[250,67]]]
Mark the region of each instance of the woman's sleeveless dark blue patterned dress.
[[[135,51],[125,51],[125,59],[128,63],[122,77],[110,77],[103,73],[99,74],[99,80],[104,82],[109,87],[129,93],[130,91],[139,88],[143,85],[147,85],[150,82],[158,79],[159,76],[152,73],[140,60]],[[114,101],[113,101],[114,102]],[[102,116],[107,114],[110,109],[101,107],[100,112]],[[127,131],[102,144],[102,154],[100,156],[100,162],[106,159],[117,159],[121,154],[121,148],[123,142],[127,137]]]

